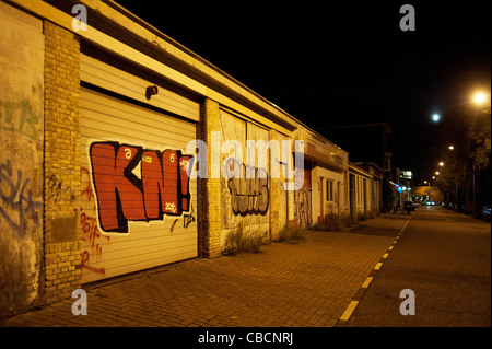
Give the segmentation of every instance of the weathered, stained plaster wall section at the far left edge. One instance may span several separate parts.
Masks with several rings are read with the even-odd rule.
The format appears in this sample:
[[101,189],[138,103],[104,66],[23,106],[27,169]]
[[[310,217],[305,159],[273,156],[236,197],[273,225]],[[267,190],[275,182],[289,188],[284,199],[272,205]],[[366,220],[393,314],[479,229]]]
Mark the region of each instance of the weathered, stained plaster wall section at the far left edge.
[[43,291],[43,22],[0,2],[0,315]]

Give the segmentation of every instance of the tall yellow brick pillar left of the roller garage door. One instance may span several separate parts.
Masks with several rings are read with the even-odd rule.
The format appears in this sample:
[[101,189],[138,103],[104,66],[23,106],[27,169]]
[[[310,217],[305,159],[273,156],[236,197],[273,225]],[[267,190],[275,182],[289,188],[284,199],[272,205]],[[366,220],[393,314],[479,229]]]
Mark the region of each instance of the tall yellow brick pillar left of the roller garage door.
[[80,43],[48,21],[45,31],[45,302],[80,288]]

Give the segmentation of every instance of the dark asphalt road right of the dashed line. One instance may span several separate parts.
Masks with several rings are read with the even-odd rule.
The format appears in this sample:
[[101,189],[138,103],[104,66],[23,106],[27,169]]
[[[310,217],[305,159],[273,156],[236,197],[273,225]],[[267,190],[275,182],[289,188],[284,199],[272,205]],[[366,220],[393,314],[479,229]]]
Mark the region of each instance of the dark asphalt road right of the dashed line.
[[[403,289],[414,293],[414,315],[400,313]],[[419,208],[345,326],[490,327],[491,224]]]

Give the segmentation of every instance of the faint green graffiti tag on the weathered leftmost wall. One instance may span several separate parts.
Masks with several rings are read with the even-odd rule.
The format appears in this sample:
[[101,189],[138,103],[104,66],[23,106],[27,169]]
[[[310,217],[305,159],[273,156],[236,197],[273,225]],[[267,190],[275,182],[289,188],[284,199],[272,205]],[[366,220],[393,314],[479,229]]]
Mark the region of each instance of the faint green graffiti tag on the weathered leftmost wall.
[[36,124],[38,123],[39,118],[31,109],[30,100],[0,101],[0,125],[3,130],[19,132],[36,140]]

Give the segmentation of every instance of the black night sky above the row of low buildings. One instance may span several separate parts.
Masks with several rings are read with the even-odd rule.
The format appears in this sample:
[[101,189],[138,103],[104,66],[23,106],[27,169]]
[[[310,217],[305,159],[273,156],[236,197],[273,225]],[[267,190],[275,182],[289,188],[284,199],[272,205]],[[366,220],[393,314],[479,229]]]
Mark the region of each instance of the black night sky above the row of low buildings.
[[418,181],[490,93],[490,1],[117,2],[312,128],[389,123],[393,164]]

